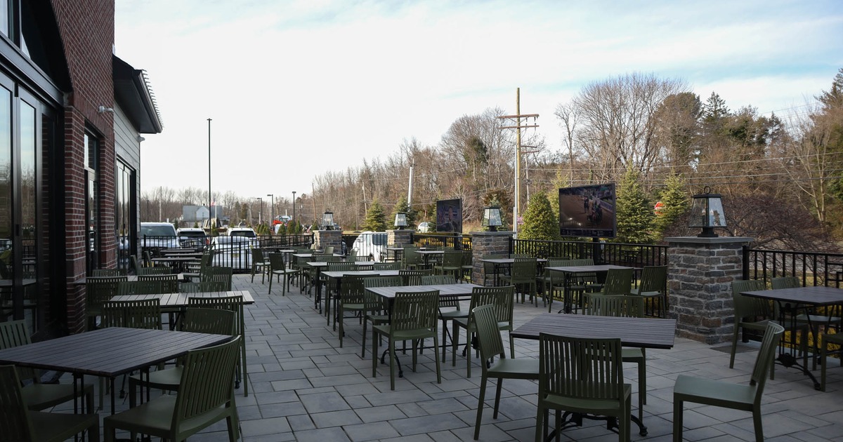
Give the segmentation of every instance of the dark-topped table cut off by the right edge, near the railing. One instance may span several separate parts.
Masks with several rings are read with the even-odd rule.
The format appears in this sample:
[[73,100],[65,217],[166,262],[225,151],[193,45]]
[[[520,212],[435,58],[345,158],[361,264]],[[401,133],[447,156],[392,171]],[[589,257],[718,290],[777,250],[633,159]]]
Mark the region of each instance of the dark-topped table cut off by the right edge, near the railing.
[[[835,306],[843,304],[843,289],[825,287],[823,285],[793,287],[790,289],[742,291],[740,294],[743,296],[775,301],[779,306],[779,323],[781,323],[782,326],[785,326],[787,316],[789,315],[791,330],[796,328],[796,317],[800,310],[807,311],[809,307]],[[810,317],[808,317],[808,328],[811,329],[811,333],[813,333],[814,336],[813,354],[814,357],[817,357],[819,339],[817,338],[817,331],[814,330],[814,324],[810,322]],[[803,374],[807,375],[811,378],[811,381],[813,381],[813,388],[819,391],[820,385],[817,378],[813,376],[813,373],[808,370],[807,366],[803,367],[802,364],[799,364],[798,359],[794,354],[797,347],[795,342],[796,333],[789,333],[789,335],[790,338],[787,339],[787,341],[785,339],[781,339],[781,343],[779,345],[779,355],[776,357],[776,362],[788,368],[792,366],[802,368]],[[785,351],[786,344],[790,344],[790,351]],[[825,361],[820,362],[825,364]]]

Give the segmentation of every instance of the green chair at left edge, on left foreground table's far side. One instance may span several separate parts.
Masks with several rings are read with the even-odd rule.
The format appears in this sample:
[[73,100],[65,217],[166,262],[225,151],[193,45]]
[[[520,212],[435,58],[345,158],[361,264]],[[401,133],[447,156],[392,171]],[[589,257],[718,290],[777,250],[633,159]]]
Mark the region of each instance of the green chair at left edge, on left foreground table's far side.
[[[29,343],[31,343],[30,333],[26,330],[26,322],[23,319],[0,322],[0,350]],[[45,410],[60,403],[72,401],[75,397],[83,397],[86,406],[84,409],[87,409],[88,413],[94,411],[93,384],[86,383],[81,390],[74,392],[72,384],[42,384],[38,370],[18,367],[18,375],[30,381],[30,384],[21,390],[24,403],[30,410]]]

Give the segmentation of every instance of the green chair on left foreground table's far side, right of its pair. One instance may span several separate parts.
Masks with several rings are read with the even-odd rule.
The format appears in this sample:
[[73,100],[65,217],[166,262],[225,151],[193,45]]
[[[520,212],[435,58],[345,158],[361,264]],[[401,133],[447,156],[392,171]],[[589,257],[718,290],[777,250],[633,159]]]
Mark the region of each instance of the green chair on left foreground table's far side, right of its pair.
[[[237,336],[234,333],[236,319],[237,315],[228,310],[191,307],[185,311],[181,331]],[[137,404],[138,386],[144,386],[147,389],[158,388],[165,391],[178,391],[181,374],[184,371],[182,363],[183,361],[180,360],[173,368],[151,371],[148,379],[139,375],[129,376],[129,407],[135,407]]]

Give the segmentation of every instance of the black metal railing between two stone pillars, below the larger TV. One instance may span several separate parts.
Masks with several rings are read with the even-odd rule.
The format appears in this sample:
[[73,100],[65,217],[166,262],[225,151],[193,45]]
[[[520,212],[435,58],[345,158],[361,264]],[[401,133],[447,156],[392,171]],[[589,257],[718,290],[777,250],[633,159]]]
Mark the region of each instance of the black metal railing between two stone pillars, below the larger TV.
[[595,264],[630,267],[668,264],[668,246],[625,242],[544,241],[512,239],[509,253],[535,258],[592,258]]

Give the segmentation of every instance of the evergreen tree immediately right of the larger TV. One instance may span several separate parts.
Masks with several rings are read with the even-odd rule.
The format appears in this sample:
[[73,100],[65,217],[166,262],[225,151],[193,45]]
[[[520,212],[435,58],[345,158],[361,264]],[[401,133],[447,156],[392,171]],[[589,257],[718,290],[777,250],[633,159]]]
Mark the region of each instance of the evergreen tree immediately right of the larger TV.
[[626,168],[618,184],[615,201],[618,234],[615,241],[648,244],[652,242],[652,205],[641,186],[641,173]]

